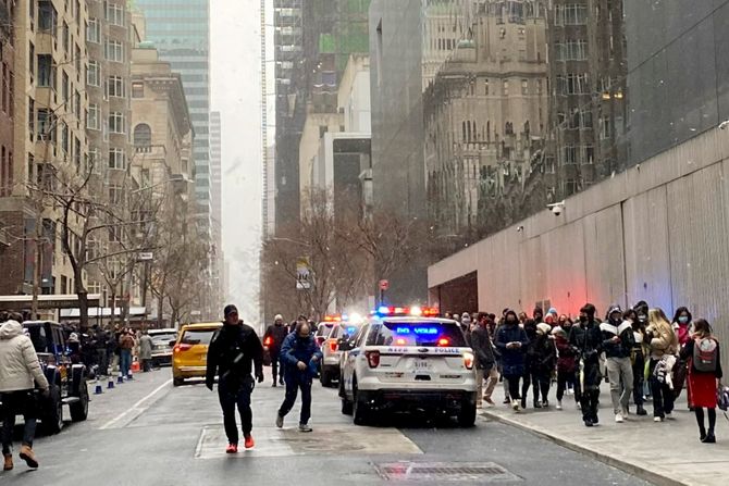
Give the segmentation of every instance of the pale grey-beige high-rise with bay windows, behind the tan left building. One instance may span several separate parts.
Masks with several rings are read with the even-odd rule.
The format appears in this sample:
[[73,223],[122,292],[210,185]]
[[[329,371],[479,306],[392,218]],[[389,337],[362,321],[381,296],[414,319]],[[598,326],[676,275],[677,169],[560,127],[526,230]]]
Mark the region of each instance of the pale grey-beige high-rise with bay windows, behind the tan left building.
[[[132,51],[139,42],[139,35],[132,21],[132,12],[125,0],[87,0],[88,24],[86,28],[86,138],[92,177],[89,189],[99,201],[119,204],[128,201],[129,190],[135,187],[129,164],[137,154],[132,145],[131,79]],[[122,120],[122,126],[116,126]],[[121,128],[121,129],[119,129]],[[123,209],[123,208],[120,208]],[[104,222],[110,223],[110,222]],[[110,232],[95,235],[95,245],[107,253],[121,252],[128,248],[126,232]],[[136,257],[135,257],[136,258]],[[88,269],[87,288],[90,294],[116,296],[138,300],[139,295],[128,284],[122,269],[127,256],[100,260]]]

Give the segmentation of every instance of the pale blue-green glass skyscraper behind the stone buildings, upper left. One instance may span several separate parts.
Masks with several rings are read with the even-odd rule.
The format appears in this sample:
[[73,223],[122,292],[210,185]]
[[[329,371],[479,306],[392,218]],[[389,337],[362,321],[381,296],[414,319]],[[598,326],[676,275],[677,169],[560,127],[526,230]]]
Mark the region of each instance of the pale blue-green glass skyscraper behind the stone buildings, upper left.
[[146,40],[182,75],[195,128],[195,192],[201,226],[211,230],[210,0],[136,0]]

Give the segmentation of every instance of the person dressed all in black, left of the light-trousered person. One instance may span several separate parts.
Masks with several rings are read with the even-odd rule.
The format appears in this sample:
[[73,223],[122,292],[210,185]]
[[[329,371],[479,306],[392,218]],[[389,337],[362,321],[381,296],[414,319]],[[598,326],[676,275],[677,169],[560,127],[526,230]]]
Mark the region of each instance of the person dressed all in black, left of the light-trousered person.
[[579,359],[574,396],[580,400],[584,425],[592,427],[600,422],[597,404],[600,384],[603,376],[600,372],[600,353],[603,336],[600,324],[595,320],[595,306],[586,303],[580,309],[580,324],[572,326],[569,336],[570,345],[576,349]]

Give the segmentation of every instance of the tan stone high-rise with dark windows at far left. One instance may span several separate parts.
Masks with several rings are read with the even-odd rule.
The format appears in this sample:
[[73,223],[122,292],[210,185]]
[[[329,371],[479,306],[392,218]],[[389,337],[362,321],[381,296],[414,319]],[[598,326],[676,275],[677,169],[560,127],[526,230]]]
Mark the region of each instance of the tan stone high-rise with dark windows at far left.
[[[0,13],[7,14],[0,20],[0,29],[8,33],[5,24],[12,18],[14,33],[12,63],[4,58],[12,51],[2,48],[1,104],[5,116],[13,120],[14,144],[2,150],[0,221],[12,241],[2,250],[7,276],[0,294],[30,294],[34,287],[42,294],[73,292],[76,276],[58,244],[58,210],[47,198],[50,190],[40,188],[61,174],[83,176],[89,169],[86,2],[20,0],[0,4]],[[71,230],[77,232],[78,224],[72,221]],[[85,279],[85,272],[79,277]]]

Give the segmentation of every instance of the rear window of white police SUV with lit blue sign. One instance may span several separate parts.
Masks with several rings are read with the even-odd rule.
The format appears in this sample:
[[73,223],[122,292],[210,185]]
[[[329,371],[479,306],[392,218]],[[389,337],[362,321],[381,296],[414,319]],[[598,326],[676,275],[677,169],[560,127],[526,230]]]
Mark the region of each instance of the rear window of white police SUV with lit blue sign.
[[367,346],[468,347],[460,327],[438,322],[374,324],[367,336]]

